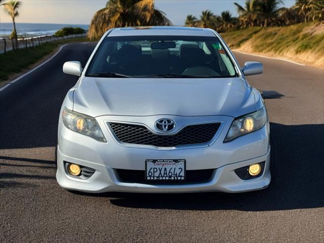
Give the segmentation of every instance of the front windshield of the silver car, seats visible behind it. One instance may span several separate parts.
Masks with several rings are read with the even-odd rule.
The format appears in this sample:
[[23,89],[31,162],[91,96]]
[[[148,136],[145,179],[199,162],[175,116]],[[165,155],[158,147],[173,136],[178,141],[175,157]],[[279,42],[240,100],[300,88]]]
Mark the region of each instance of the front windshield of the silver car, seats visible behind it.
[[238,76],[218,37],[158,35],[106,37],[86,76],[116,74],[121,77]]

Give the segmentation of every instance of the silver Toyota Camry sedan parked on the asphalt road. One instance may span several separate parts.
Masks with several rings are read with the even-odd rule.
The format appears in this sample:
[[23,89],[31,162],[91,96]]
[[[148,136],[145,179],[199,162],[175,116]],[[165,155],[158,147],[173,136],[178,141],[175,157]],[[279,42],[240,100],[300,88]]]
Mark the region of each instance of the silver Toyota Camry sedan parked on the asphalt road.
[[108,30],[63,101],[57,181],[85,192],[245,192],[270,176],[267,111],[212,29]]

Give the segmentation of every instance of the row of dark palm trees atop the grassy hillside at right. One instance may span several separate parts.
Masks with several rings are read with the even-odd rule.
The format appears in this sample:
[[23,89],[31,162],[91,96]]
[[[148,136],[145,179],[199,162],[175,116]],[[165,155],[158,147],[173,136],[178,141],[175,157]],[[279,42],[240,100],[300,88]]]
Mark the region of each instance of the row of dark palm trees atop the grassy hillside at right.
[[220,16],[210,10],[203,11],[197,19],[187,15],[185,25],[189,27],[212,28],[218,32],[251,26],[284,26],[310,21],[324,21],[324,0],[296,0],[291,8],[280,7],[280,0],[247,0],[244,6],[234,3],[238,17],[229,11]]

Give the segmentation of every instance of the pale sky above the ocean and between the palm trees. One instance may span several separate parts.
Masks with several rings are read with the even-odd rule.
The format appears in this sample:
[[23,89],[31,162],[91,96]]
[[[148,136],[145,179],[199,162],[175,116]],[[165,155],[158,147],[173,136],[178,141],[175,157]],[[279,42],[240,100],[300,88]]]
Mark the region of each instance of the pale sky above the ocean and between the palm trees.
[[[107,0],[21,0],[17,23],[90,24],[93,14],[104,8]],[[283,1],[285,7],[295,0]],[[186,16],[199,18],[201,11],[211,10],[220,15],[229,10],[237,16],[234,3],[244,6],[245,0],[155,0],[155,8],[166,13],[174,25],[184,25]],[[3,7],[0,7],[0,22],[11,22]]]

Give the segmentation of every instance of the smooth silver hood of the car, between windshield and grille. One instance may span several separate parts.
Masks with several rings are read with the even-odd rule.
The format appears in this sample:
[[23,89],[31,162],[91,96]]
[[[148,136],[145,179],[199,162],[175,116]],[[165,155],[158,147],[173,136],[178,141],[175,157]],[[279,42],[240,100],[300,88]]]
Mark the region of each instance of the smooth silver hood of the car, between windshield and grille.
[[229,115],[256,110],[251,87],[240,78],[85,77],[73,110],[91,115]]

